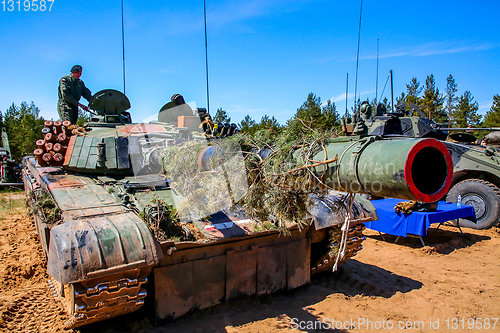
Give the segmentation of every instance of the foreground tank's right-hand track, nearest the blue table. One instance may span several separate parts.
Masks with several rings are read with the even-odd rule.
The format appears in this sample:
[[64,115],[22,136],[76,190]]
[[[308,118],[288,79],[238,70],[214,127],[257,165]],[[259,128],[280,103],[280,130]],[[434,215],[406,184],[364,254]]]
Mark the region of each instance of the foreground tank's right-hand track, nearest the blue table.
[[[321,259],[317,260],[316,263],[311,263],[311,274],[331,271],[333,269],[340,246],[338,240],[340,239],[340,235],[342,234],[341,227],[342,226],[339,225],[331,227],[330,230],[328,230],[328,251],[321,257]],[[344,254],[344,257],[340,258],[338,263],[339,265],[354,257],[358,253],[358,251],[361,251],[363,249],[363,245],[361,245],[361,243],[366,239],[366,236],[363,236],[364,229],[364,224],[353,225],[349,228],[347,234],[346,252]]]

